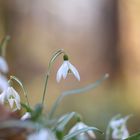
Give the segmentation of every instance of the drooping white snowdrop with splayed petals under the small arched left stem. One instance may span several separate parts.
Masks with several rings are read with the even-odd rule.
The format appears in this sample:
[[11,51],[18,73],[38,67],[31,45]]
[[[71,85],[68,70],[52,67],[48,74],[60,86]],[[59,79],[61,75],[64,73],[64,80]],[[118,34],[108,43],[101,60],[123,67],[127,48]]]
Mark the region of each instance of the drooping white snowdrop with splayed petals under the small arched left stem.
[[4,104],[5,102],[8,102],[12,109],[15,107],[14,111],[21,108],[20,96],[13,87],[8,87],[0,94],[0,103]]

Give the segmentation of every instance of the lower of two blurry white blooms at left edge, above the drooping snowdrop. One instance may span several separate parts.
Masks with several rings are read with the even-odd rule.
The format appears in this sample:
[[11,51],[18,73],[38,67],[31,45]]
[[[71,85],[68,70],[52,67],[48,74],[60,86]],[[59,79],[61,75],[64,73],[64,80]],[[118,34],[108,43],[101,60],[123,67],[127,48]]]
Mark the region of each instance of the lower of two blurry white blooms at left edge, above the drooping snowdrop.
[[5,89],[8,88],[8,80],[6,79],[5,76],[0,75],[0,91],[4,91]]

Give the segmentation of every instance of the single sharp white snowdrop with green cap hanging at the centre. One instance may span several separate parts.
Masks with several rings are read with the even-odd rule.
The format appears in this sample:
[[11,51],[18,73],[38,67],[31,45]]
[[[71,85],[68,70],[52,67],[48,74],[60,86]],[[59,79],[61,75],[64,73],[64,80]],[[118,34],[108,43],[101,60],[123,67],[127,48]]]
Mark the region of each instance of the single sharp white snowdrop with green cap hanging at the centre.
[[64,55],[64,62],[57,72],[57,76],[56,76],[57,82],[59,82],[62,77],[66,79],[66,76],[69,72],[72,72],[76,77],[76,79],[80,81],[80,75],[78,70],[69,62],[68,56]]

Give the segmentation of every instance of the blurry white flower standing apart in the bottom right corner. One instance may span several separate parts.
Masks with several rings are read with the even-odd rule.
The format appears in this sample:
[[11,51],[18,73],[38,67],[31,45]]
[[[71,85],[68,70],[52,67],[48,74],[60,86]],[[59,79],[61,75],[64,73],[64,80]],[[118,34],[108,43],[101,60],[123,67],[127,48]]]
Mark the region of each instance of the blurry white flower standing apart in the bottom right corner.
[[128,129],[126,127],[126,122],[130,116],[115,119],[110,122],[110,127],[112,128],[112,138],[114,140],[126,139],[129,136]]

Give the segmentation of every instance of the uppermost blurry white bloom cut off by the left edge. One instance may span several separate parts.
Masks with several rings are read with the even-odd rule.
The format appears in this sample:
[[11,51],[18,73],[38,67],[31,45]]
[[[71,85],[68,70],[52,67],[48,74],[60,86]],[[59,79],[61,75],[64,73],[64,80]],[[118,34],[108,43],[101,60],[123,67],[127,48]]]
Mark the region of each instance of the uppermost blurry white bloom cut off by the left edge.
[[6,60],[0,56],[0,72],[7,73],[8,72],[8,65]]

